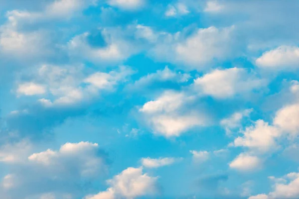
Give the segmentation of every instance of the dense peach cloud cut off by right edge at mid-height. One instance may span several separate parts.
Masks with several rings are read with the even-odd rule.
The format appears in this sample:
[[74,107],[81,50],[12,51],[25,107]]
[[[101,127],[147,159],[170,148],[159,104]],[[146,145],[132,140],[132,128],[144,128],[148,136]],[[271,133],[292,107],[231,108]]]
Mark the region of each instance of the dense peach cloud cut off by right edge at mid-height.
[[277,111],[275,125],[292,136],[299,134],[299,103],[286,105]]

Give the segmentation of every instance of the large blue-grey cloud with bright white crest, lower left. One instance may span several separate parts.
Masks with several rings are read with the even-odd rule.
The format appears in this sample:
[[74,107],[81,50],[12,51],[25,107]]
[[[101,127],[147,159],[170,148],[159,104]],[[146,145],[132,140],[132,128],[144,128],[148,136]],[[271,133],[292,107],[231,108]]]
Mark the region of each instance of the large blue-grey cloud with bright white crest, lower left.
[[106,173],[106,159],[98,144],[90,142],[66,143],[58,151],[33,153],[9,167],[4,191],[11,199],[38,198],[46,193],[57,198],[61,193],[80,194],[78,185]]

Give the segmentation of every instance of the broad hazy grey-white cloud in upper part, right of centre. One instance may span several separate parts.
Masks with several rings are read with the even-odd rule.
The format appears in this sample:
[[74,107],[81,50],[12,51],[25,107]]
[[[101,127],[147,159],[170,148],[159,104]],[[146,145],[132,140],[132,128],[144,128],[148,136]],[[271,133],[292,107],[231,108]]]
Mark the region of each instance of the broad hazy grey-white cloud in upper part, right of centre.
[[185,32],[164,33],[150,54],[191,70],[203,70],[208,64],[236,55],[233,34],[234,27],[218,29],[213,26],[197,29],[191,35]]

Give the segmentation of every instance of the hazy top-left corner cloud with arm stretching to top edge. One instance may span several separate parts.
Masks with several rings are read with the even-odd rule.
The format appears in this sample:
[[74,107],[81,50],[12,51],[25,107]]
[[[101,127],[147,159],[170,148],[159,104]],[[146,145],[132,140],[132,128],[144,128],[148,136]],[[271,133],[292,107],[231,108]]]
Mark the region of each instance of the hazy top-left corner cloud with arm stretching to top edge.
[[55,47],[51,44],[49,32],[27,26],[70,18],[91,3],[92,0],[55,0],[46,4],[41,11],[7,11],[7,21],[0,26],[0,51],[4,55],[22,59],[53,54]]

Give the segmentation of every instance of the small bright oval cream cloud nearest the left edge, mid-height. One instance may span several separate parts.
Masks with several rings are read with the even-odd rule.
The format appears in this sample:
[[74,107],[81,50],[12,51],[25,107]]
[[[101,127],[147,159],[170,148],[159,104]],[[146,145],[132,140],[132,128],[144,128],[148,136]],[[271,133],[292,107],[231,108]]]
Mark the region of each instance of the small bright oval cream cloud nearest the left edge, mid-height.
[[46,93],[46,88],[43,85],[27,82],[20,84],[16,90],[18,95],[34,96]]

